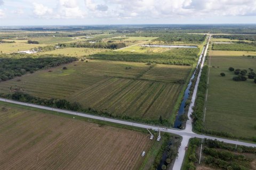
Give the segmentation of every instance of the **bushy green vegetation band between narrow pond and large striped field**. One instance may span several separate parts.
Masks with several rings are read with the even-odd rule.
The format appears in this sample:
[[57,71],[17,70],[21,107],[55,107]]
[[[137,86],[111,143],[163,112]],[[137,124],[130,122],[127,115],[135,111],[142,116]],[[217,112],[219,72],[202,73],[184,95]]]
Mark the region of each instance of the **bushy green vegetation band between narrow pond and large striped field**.
[[130,53],[130,52],[107,52],[93,54],[91,59],[129,61],[129,62],[151,62],[158,64],[192,65],[197,60],[199,48],[172,49],[163,53]]

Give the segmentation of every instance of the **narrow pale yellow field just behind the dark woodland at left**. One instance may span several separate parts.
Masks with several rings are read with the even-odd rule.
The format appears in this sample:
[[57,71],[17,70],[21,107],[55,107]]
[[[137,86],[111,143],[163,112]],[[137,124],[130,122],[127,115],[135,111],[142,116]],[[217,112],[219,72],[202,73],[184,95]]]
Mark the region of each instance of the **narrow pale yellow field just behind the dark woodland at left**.
[[110,49],[101,49],[101,48],[62,48],[62,49],[55,49],[49,52],[42,52],[38,53],[37,55],[41,54],[56,54],[56,55],[65,55],[65,56],[74,56],[74,57],[81,57],[87,56],[96,53],[107,52]]

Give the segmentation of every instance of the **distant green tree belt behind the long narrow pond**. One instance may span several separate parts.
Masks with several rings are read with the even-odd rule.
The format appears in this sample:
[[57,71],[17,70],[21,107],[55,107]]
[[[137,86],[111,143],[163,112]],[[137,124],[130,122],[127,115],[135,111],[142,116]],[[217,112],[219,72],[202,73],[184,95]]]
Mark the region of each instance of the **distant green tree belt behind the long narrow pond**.
[[155,39],[156,41],[163,41],[166,44],[171,44],[177,41],[181,43],[201,44],[206,38],[206,35],[172,33],[172,32],[142,32],[142,33],[134,33],[128,36],[158,37],[157,39]]

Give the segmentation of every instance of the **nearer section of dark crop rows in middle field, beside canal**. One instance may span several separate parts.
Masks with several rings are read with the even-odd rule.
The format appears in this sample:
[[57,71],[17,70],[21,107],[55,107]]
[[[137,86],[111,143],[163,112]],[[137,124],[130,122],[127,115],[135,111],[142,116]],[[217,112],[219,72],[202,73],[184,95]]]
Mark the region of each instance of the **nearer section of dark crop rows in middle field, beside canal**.
[[173,83],[112,78],[75,93],[70,100],[117,115],[167,118],[180,88]]

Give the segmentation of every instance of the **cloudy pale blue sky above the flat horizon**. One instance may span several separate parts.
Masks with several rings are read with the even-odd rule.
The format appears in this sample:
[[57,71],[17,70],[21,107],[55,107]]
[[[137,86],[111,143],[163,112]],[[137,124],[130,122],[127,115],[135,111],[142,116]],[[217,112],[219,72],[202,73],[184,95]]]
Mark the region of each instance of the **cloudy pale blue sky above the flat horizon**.
[[0,25],[256,23],[256,0],[0,0]]

